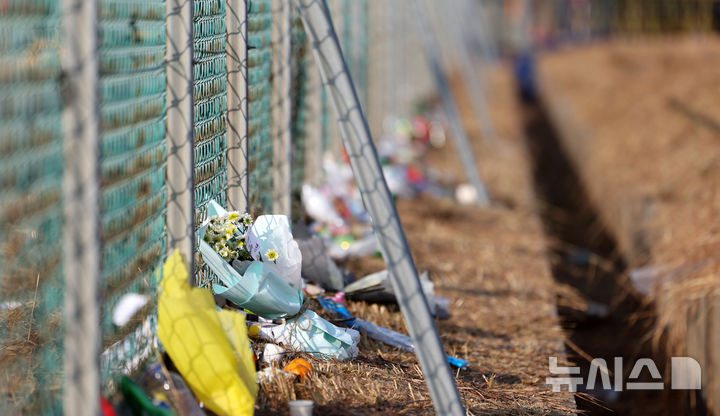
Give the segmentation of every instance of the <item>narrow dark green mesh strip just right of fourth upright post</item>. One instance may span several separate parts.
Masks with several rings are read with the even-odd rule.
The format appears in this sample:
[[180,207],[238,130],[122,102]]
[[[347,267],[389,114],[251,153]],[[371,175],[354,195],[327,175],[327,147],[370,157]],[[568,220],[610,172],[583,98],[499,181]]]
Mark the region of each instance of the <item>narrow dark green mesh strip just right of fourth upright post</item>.
[[[292,14],[292,162],[290,171],[291,201],[294,219],[302,213],[301,191],[305,181],[305,144],[307,142],[307,121],[310,111],[307,101],[308,74],[310,66],[310,45],[297,8]],[[319,167],[318,167],[319,168]]]

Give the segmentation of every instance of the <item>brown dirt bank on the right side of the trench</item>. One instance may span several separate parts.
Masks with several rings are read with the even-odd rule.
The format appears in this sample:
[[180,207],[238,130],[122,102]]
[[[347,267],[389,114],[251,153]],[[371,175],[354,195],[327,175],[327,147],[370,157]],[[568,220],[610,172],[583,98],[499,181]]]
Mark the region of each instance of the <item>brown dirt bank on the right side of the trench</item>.
[[[655,341],[720,399],[720,39],[598,43],[540,60],[543,100],[629,269],[656,268]],[[713,393],[714,391],[714,393]]]

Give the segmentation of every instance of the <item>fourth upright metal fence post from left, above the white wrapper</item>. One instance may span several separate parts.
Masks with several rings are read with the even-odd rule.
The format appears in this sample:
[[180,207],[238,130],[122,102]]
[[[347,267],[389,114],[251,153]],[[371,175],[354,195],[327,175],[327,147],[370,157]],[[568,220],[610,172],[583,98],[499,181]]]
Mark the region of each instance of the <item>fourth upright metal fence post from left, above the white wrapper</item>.
[[290,164],[292,163],[292,16],[290,0],[273,2],[273,211],[290,215]]

